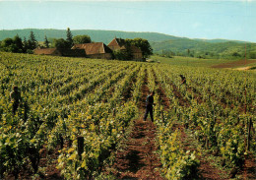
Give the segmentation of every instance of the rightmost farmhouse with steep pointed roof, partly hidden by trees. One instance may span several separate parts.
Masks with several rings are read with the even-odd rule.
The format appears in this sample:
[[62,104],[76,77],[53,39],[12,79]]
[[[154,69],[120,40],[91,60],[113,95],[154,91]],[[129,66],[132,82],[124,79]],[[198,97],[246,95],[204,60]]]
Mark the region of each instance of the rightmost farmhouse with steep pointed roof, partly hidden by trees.
[[113,51],[128,51],[130,50],[131,55],[134,60],[141,60],[142,59],[142,51],[139,47],[135,45],[128,46],[124,39],[122,38],[114,38],[109,44],[107,45]]

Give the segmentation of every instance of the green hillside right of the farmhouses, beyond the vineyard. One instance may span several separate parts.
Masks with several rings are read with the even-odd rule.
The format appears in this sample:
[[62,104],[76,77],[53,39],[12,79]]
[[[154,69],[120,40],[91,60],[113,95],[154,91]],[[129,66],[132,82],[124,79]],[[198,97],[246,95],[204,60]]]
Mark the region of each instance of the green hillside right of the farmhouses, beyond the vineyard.
[[[208,41],[195,39],[170,39],[151,42],[155,53],[182,55],[203,58],[242,58],[245,56],[245,43],[236,41]],[[256,43],[246,43],[247,58],[256,58]]]

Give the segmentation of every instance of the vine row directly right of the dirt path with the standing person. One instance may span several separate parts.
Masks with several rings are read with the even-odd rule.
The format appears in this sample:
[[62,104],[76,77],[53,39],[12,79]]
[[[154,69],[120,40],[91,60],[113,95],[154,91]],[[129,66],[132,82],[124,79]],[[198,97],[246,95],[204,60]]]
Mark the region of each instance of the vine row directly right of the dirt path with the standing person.
[[[185,150],[182,146],[180,129],[175,128],[179,118],[173,106],[163,105],[160,89],[163,86],[156,76],[154,68],[149,69],[150,90],[155,90],[155,124],[157,125],[157,141],[160,147],[161,174],[166,179],[193,179],[197,177],[199,160],[195,151]],[[159,72],[159,71],[158,71]],[[157,85],[158,83],[158,85]]]

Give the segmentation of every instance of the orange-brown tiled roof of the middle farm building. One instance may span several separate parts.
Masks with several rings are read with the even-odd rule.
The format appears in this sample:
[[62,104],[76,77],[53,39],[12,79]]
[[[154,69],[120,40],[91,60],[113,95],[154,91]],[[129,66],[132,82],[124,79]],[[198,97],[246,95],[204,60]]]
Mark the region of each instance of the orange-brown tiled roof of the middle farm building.
[[75,44],[72,49],[85,49],[87,55],[112,52],[103,42]]

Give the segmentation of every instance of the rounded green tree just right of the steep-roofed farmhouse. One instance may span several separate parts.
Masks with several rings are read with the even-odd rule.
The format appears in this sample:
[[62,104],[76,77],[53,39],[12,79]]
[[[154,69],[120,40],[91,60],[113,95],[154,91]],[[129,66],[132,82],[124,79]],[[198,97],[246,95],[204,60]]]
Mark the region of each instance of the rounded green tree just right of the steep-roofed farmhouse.
[[143,58],[147,58],[153,54],[153,49],[151,47],[150,42],[144,38],[134,38],[134,39],[126,39],[127,43],[135,45],[139,47],[142,51]]

